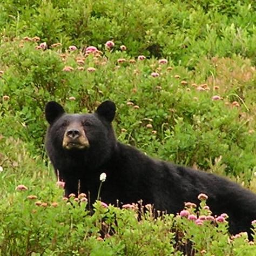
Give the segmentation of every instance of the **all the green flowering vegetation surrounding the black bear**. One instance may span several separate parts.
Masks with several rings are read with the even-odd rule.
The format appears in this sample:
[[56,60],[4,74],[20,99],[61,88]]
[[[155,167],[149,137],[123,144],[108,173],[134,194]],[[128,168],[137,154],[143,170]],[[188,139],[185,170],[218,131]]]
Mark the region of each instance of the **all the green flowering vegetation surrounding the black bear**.
[[253,1],[9,0],[0,12],[3,255],[252,255],[226,223],[67,206],[43,143],[49,100],[91,112],[111,99],[120,141],[256,191]]

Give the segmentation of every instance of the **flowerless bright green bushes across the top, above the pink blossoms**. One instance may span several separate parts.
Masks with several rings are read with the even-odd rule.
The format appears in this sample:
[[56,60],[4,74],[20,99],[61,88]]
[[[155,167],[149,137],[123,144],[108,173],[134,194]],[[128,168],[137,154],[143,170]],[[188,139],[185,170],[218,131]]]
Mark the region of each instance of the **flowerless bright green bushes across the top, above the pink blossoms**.
[[[114,39],[131,56],[169,56],[193,69],[202,56],[255,58],[253,1],[15,1],[0,4],[2,33],[79,48]],[[138,18],[139,17],[139,18]]]

